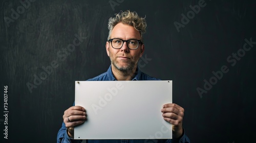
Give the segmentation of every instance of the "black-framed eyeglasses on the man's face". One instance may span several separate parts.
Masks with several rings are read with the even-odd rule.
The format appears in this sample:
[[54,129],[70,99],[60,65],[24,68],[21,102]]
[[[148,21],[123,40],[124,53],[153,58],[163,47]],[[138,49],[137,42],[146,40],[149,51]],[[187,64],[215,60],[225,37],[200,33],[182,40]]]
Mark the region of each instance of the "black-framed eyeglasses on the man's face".
[[120,49],[123,46],[123,43],[126,42],[129,49],[135,50],[138,49],[139,44],[142,44],[142,41],[136,40],[136,39],[130,39],[130,40],[122,40],[118,38],[109,39],[109,42],[111,42],[111,45],[114,49]]

